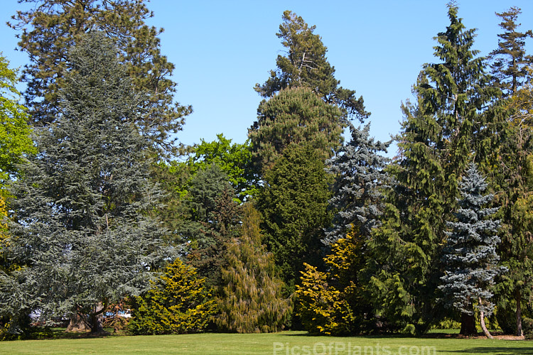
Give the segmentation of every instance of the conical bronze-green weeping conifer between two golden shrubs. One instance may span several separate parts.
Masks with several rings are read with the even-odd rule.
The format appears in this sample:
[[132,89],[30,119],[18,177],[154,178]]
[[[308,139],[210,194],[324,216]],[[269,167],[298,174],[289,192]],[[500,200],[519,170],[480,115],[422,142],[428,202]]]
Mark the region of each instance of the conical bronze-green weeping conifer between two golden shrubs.
[[241,235],[227,246],[227,267],[217,303],[220,329],[238,332],[278,332],[291,312],[291,300],[281,296],[274,258],[262,245],[259,212],[244,205]]

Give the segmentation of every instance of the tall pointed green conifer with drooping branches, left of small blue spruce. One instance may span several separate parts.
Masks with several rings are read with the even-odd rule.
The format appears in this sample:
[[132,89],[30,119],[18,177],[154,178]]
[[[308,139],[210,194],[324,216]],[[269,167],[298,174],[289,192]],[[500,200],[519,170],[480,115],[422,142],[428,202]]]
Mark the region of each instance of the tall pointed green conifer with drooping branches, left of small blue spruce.
[[424,332],[443,316],[435,307],[436,286],[458,176],[473,152],[485,163],[495,151],[490,104],[500,91],[490,86],[483,58],[472,49],[475,31],[465,29],[457,11],[448,4],[450,24],[434,47],[439,62],[424,65],[413,89],[416,104],[402,107],[399,155],[388,170],[394,186],[369,242],[376,310],[407,332]]

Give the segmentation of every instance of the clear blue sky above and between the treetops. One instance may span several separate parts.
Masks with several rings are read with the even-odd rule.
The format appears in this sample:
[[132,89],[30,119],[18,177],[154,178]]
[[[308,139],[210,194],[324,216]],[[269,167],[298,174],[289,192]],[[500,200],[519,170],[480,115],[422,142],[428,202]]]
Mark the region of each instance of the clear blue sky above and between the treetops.
[[[27,4],[1,0],[0,50],[11,67],[28,58],[14,51],[16,32],[5,23]],[[357,90],[371,111],[371,133],[388,140],[399,132],[400,104],[412,97],[421,65],[433,62],[433,40],[448,26],[447,0],[388,1],[182,1],[151,0],[150,24],[165,29],[161,52],[176,65],[176,101],[193,105],[178,138],[185,144],[212,141],[224,133],[243,143],[261,101],[254,84],[274,69],[283,49],[276,33],[281,15],[296,12],[322,36],[328,60],[343,87]],[[533,29],[532,0],[462,0],[459,16],[478,28],[475,49],[487,55],[497,47],[499,18],[511,6],[522,9],[521,30]],[[527,48],[533,52],[532,41]],[[393,148],[394,150],[395,148]],[[389,155],[393,155],[389,152]]]

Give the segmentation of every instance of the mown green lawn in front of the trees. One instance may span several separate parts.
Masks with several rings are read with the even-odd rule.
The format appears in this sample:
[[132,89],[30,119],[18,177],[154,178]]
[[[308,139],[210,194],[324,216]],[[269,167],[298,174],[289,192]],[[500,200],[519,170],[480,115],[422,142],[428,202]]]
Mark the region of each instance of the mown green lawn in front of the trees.
[[413,337],[309,337],[276,334],[186,334],[0,342],[0,354],[533,354],[533,342]]

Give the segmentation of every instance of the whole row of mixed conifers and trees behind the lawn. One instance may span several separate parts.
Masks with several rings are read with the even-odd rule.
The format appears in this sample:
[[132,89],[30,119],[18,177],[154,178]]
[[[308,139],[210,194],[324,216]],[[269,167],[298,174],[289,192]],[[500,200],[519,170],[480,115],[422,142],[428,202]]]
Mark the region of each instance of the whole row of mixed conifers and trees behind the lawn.
[[[0,60],[0,336],[522,334],[533,316],[532,31],[497,13],[487,58],[448,4],[435,62],[402,104],[398,152],[340,86],[315,26],[285,11],[286,55],[245,143],[181,146],[191,108],[143,1],[34,0]],[[349,132],[345,141],[343,132]],[[118,317],[131,310],[131,319]]]

